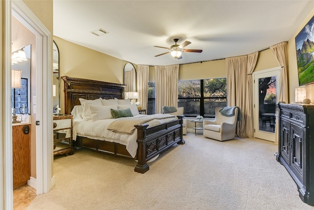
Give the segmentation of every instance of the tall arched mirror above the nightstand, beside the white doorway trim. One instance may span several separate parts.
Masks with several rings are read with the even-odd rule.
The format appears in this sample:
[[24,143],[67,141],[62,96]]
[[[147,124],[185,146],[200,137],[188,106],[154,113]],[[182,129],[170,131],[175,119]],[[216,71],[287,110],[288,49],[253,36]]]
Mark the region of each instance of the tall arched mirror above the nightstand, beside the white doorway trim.
[[59,48],[53,41],[53,114],[59,114],[60,106],[60,73],[59,73]]

